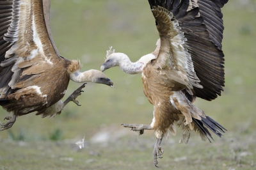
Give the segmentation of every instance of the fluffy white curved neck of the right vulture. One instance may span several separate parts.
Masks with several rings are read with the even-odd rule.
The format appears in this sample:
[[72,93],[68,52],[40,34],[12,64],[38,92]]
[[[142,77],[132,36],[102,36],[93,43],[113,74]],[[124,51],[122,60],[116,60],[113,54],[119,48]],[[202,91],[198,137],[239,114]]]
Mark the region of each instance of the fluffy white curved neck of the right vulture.
[[132,63],[129,57],[123,53],[118,54],[118,64],[120,69],[128,74],[142,73],[144,63],[136,61]]

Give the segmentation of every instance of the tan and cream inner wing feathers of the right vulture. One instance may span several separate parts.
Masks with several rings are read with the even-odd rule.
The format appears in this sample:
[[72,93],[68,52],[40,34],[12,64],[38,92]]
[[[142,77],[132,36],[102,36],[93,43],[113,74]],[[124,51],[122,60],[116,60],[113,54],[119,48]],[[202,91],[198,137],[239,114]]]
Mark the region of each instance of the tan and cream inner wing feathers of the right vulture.
[[180,79],[189,82],[189,89],[193,89],[193,86],[202,88],[198,84],[200,81],[193,69],[191,56],[184,46],[186,38],[179,31],[178,21],[175,20],[171,12],[157,4],[152,5],[152,13],[156,19],[161,42],[157,59],[154,62],[155,67],[175,70]]

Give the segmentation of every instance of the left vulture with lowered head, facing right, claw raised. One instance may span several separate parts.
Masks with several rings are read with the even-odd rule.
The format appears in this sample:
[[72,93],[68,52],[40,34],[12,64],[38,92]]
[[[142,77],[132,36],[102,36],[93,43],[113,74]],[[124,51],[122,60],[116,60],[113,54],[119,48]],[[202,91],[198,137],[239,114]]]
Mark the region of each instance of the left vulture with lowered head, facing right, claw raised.
[[0,105],[12,116],[0,130],[12,127],[17,116],[30,112],[55,116],[81,95],[84,84],[64,102],[68,82],[113,86],[99,70],[81,71],[79,60],[60,56],[52,40],[50,0],[0,0]]

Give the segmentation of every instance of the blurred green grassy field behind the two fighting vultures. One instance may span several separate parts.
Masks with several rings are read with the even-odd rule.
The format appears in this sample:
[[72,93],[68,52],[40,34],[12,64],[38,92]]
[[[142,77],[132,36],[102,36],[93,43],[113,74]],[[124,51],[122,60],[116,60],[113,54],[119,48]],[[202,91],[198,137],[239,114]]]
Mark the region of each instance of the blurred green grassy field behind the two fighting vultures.
[[[227,132],[214,142],[193,133],[179,144],[180,131],[164,139],[159,169],[256,169],[256,1],[230,0],[223,8],[225,88],[212,102],[196,106]],[[110,46],[131,61],[152,52],[158,38],[148,1],[52,0],[51,29],[61,56],[80,59],[83,70],[100,69]],[[141,75],[106,70],[115,88],[86,84],[55,118],[34,113],[17,118],[0,132],[0,169],[155,169],[154,132],[138,136],[121,123],[152,121],[153,107],[143,94]],[[63,99],[81,86],[71,82]],[[0,109],[3,122],[8,112]],[[76,141],[85,139],[82,150]]]

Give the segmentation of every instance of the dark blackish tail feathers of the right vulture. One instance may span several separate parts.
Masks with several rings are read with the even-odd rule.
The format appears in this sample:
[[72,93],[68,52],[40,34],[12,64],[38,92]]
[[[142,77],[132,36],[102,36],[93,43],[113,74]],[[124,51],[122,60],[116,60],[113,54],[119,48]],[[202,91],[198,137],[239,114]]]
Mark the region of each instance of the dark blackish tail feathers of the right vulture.
[[[211,143],[211,140],[209,139],[209,137],[211,137],[212,141],[214,141],[214,139],[212,138],[212,135],[209,132],[209,130],[211,130],[214,134],[218,135],[218,137],[222,136],[221,132],[225,133],[224,130],[227,131],[227,129],[222,127],[220,123],[212,120],[212,118],[210,118],[209,116],[206,116],[206,118],[202,116],[200,117],[202,118],[202,120],[196,120],[195,118],[192,118],[193,122],[196,124],[196,126],[199,128],[202,134],[204,134],[205,137],[207,137],[210,143]],[[205,128],[204,125],[205,127],[209,128],[209,130]]]

